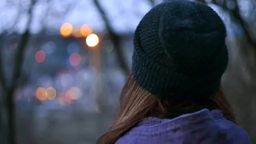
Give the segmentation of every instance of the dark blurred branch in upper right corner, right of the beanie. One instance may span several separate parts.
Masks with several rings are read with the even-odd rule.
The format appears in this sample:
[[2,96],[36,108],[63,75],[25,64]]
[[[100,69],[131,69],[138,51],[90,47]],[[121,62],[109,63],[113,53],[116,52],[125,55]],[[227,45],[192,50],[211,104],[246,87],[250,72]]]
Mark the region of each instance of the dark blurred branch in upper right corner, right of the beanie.
[[[205,0],[197,0],[198,2],[203,2],[203,3],[207,3],[205,2]],[[243,17],[241,16],[240,14],[240,9],[239,9],[239,5],[237,3],[237,0],[234,0],[233,2],[235,3],[235,9],[233,10],[230,10],[228,9],[227,7],[227,1],[224,1],[225,3],[223,5],[219,5],[217,0],[212,0],[210,3],[212,4],[215,4],[215,5],[219,5],[222,7],[223,10],[226,10],[228,12],[230,12],[233,17],[236,19],[236,22],[237,23],[240,23],[241,27],[243,28],[244,30],[244,33],[245,33],[245,37],[247,38],[248,42],[253,46],[255,47],[256,49],[256,42],[254,41],[254,39],[252,38],[249,30],[247,29],[247,23],[243,20]]]

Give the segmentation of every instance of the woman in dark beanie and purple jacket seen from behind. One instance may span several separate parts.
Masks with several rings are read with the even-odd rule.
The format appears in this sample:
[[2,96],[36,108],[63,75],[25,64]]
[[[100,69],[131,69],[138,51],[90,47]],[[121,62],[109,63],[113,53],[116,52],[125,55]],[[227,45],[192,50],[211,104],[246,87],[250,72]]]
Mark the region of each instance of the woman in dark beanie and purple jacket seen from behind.
[[225,37],[207,5],[173,0],[151,9],[135,30],[118,115],[98,143],[250,143],[220,89]]

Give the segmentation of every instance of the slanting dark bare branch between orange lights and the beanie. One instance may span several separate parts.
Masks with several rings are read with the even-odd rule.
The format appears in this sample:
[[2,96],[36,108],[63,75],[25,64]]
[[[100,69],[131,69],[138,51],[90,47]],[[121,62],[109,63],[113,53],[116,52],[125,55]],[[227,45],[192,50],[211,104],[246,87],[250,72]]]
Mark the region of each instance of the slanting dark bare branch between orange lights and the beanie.
[[119,65],[122,68],[122,70],[124,71],[124,73],[126,75],[128,75],[130,73],[130,69],[127,66],[127,63],[126,63],[126,60],[125,60],[125,57],[123,54],[123,50],[122,50],[122,46],[121,46],[122,37],[115,33],[115,30],[111,26],[110,21],[107,17],[107,14],[103,10],[103,7],[100,5],[99,0],[93,0],[93,2],[94,2],[94,5],[97,7],[98,11],[100,12],[101,18],[105,22],[106,29],[109,33],[109,38],[111,39],[111,41],[113,42],[114,47],[115,47],[116,57],[118,59]]

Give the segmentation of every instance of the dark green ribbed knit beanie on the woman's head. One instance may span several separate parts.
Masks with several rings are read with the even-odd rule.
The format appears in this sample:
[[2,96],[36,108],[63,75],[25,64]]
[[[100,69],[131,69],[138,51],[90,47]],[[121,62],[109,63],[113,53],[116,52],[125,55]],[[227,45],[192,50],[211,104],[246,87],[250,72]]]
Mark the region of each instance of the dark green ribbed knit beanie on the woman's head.
[[211,7],[172,0],[155,6],[134,34],[132,76],[166,99],[207,98],[228,63],[226,27]]

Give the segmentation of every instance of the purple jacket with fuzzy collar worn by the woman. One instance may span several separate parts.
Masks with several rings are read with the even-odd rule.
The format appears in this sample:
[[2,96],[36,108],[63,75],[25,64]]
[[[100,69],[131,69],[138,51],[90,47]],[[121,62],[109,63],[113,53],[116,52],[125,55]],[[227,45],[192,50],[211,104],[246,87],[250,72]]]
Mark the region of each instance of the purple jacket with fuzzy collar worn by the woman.
[[244,129],[219,110],[203,109],[174,119],[146,118],[116,144],[249,144]]

